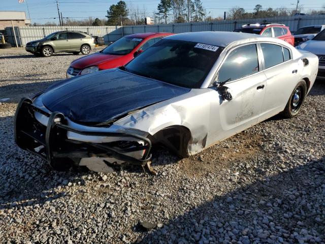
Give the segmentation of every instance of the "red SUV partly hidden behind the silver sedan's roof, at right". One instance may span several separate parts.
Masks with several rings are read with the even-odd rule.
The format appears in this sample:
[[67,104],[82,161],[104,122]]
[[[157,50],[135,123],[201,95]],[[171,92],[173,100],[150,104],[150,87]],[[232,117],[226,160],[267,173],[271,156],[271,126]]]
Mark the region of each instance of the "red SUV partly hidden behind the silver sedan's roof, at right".
[[241,28],[236,29],[234,32],[244,32],[261,35],[263,37],[276,37],[291,45],[295,44],[295,37],[291,35],[288,26],[284,24],[244,24]]

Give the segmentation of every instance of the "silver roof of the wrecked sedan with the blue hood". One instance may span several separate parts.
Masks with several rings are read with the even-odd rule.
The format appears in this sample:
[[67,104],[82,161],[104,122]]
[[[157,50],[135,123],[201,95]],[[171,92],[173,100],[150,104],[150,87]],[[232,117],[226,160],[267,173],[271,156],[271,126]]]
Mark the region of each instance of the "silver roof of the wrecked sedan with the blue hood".
[[187,32],[166,37],[171,40],[181,40],[226,47],[230,43],[243,39],[263,38],[255,34],[240,32]]

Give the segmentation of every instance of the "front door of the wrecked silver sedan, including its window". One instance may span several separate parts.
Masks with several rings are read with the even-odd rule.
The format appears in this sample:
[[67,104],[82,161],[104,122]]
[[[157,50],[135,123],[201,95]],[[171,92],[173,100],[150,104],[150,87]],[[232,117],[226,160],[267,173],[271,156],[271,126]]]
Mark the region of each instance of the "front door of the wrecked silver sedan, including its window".
[[[235,134],[257,123],[265,95],[266,76],[256,44],[232,49],[217,73],[217,82],[230,89],[232,100],[221,100],[220,125],[225,135]],[[223,135],[218,135],[220,138]]]

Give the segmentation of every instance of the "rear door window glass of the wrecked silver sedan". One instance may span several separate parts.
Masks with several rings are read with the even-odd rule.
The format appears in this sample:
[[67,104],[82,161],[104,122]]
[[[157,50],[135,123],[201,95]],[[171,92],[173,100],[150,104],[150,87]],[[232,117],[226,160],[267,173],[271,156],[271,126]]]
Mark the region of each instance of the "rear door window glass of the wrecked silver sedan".
[[283,63],[282,47],[275,44],[261,43],[263,50],[265,68]]

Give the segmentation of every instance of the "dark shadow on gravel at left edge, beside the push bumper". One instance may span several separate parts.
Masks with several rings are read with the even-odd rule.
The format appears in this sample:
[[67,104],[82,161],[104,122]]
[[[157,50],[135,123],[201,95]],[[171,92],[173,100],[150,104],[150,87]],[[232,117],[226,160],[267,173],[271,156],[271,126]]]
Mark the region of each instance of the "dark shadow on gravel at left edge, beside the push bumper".
[[[0,117],[0,125],[12,129],[13,116]],[[8,129],[0,130],[0,138],[6,138],[0,148],[0,181],[4,182],[0,188],[0,209],[41,205],[65,197],[66,192],[61,189],[66,185],[64,180],[73,178],[69,182],[84,184],[81,177],[85,173],[53,171],[45,161],[20,149]]]

